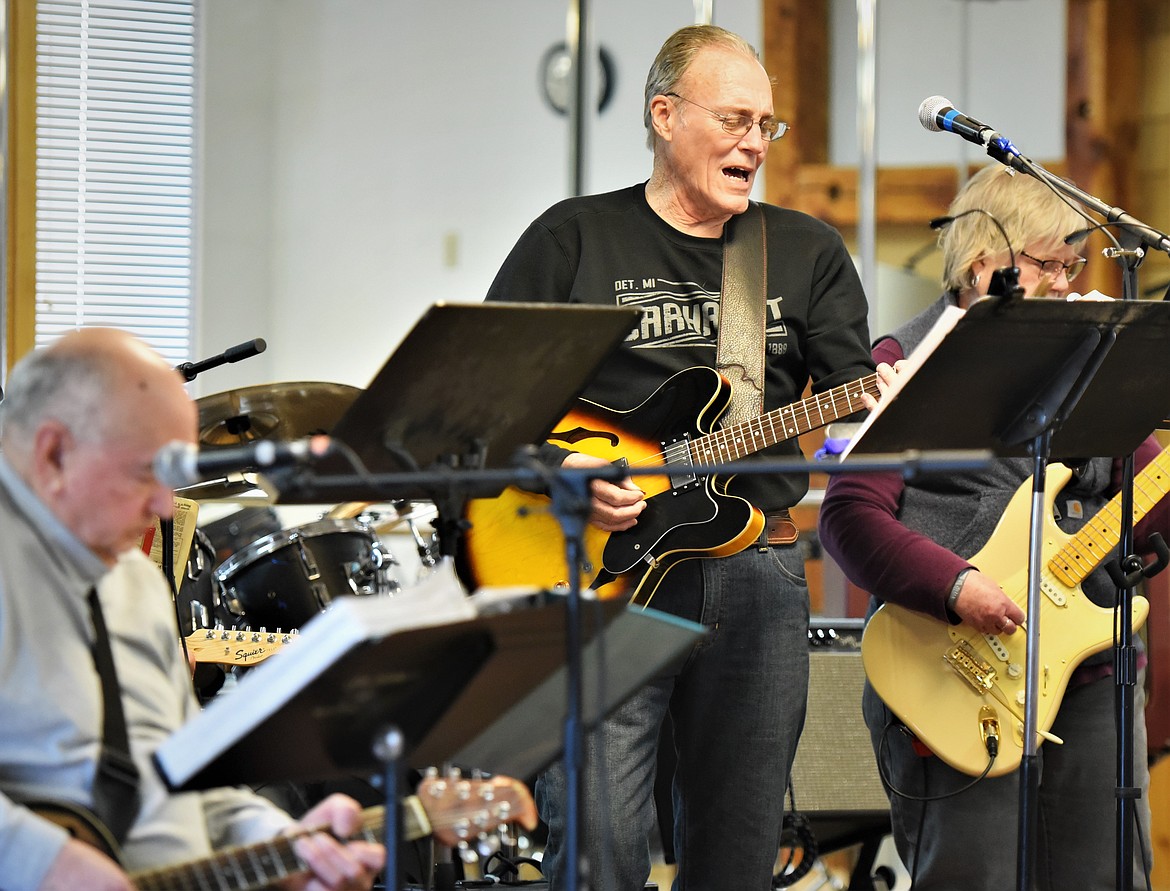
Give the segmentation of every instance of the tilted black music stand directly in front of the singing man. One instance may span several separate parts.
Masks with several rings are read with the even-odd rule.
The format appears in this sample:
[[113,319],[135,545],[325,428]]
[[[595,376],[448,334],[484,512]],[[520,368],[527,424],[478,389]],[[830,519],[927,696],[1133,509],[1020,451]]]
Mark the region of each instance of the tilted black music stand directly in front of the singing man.
[[[370,476],[511,469],[517,450],[544,441],[638,318],[636,310],[617,306],[436,303],[330,435]],[[267,476],[283,503],[369,500],[370,484],[352,471],[335,456],[316,464],[317,478]],[[463,495],[487,498],[504,485],[481,479]],[[434,489],[393,495],[448,500]]]

